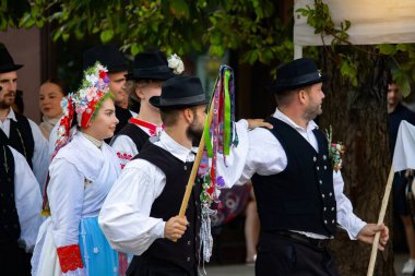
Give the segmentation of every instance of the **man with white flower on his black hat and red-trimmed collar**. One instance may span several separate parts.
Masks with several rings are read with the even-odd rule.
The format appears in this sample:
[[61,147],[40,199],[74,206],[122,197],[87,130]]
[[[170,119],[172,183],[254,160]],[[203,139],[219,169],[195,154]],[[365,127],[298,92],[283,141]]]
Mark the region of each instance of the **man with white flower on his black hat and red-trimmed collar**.
[[[181,60],[177,56],[175,58],[179,64]],[[177,67],[169,68],[166,58],[159,51],[141,52],[135,56],[134,69],[127,79],[134,82],[134,95],[131,96],[139,99],[140,111],[111,140],[111,146],[116,149],[122,167],[140,152],[150,136],[156,136],[163,130],[159,110],[149,100],[161,95],[163,82],[176,75],[174,72],[177,71],[174,69]],[[177,72],[179,73],[181,72]]]

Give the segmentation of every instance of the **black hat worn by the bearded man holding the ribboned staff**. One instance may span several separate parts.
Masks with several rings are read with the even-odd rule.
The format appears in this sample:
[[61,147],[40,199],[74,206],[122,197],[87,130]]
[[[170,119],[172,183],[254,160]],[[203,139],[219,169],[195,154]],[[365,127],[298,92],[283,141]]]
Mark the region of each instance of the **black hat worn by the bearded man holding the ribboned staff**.
[[158,108],[180,108],[209,104],[202,83],[195,76],[175,76],[162,85],[162,95],[150,98]]

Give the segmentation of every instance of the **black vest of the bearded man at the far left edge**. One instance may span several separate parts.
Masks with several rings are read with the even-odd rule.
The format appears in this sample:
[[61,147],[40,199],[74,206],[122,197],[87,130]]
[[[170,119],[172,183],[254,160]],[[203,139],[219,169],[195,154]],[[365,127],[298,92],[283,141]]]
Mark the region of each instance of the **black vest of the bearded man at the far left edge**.
[[15,117],[17,121],[10,120],[9,137],[3,131],[0,131],[0,135],[8,145],[21,153],[26,158],[28,166],[33,168],[32,158],[35,151],[35,140],[33,139],[31,123],[24,116],[15,113]]

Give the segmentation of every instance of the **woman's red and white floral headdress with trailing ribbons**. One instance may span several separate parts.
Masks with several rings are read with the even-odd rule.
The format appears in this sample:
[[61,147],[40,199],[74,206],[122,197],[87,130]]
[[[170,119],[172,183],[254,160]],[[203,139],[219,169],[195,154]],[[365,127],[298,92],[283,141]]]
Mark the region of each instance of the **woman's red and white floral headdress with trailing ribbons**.
[[[84,71],[84,79],[80,89],[75,93],[70,93],[68,97],[63,98],[60,105],[62,106],[63,117],[59,121],[58,137],[55,143],[55,152],[52,158],[57,155],[70,140],[70,131],[72,121],[76,115],[78,125],[86,129],[88,122],[96,116],[96,110],[99,109],[103,101],[111,94],[109,92],[109,79],[107,76],[107,69],[99,62]],[[48,215],[49,206],[47,200],[47,184],[49,176],[44,190],[44,204],[43,214]]]

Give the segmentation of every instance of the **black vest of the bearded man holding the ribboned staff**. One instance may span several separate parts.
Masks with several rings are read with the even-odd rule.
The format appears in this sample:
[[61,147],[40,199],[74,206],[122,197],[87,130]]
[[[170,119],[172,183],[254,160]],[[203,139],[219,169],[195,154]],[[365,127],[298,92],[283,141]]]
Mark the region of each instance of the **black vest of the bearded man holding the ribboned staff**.
[[[166,175],[166,185],[162,194],[154,201],[150,216],[163,218],[164,221],[177,216],[193,163],[182,163],[151,142],[145,143],[135,158],[154,164]],[[181,239],[177,240],[177,242],[157,239],[141,256],[134,257],[163,260],[189,272],[194,272],[199,261],[200,247],[200,192],[201,184],[197,183],[193,187],[186,211],[186,217],[190,224]]]

